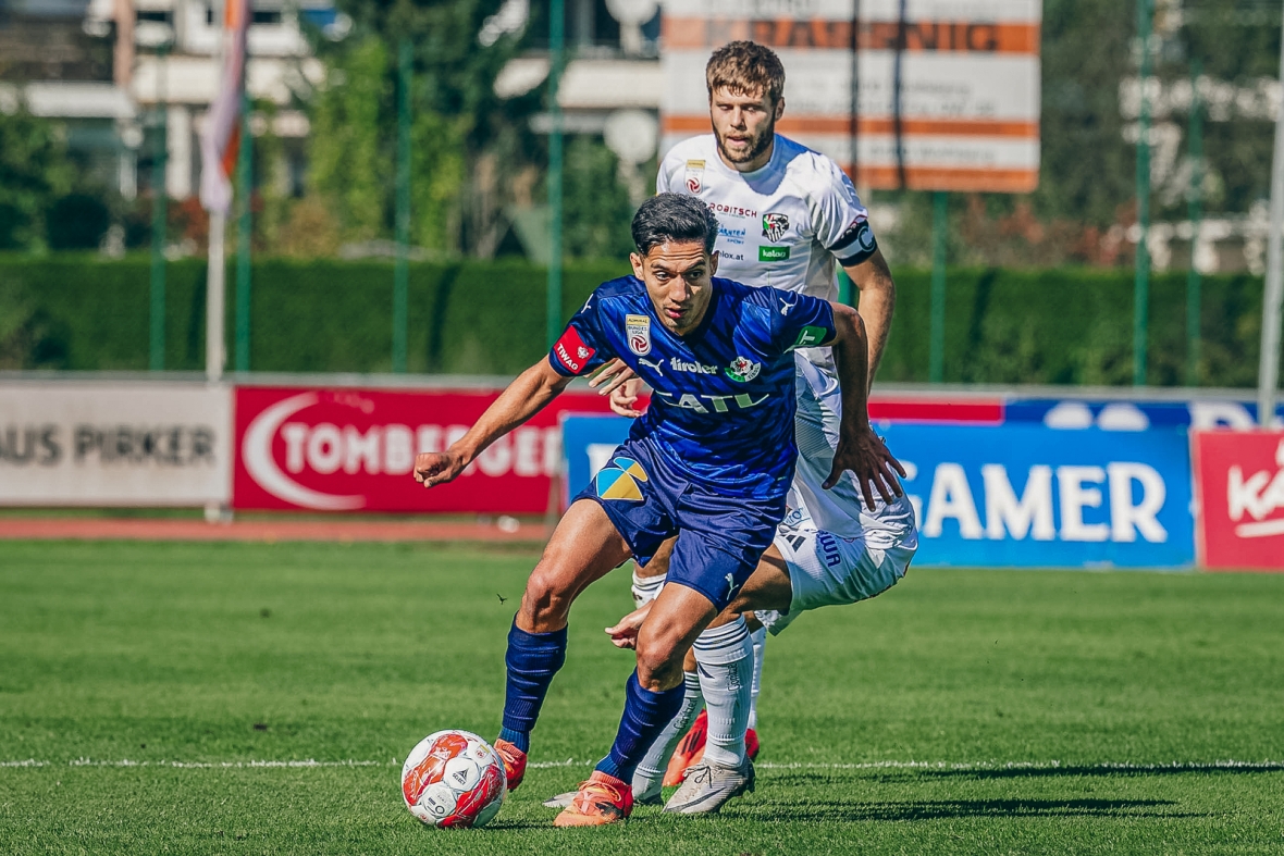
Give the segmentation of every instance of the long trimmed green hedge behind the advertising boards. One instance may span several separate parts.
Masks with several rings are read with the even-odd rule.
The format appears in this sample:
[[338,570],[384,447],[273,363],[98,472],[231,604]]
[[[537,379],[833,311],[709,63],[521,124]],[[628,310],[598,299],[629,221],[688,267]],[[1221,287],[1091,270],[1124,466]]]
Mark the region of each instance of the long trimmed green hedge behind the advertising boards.
[[[227,331],[235,276],[229,266]],[[564,316],[625,263],[578,263],[565,273]],[[899,270],[899,303],[881,379],[924,381],[930,275]],[[144,371],[149,262],[0,257],[0,361],[5,367]],[[256,263],[250,368],[379,372],[392,366],[393,268],[384,262]],[[205,266],[167,266],[166,368],[204,366]],[[1206,277],[1201,384],[1252,386],[1261,325],[1260,278]],[[1148,381],[1185,377],[1185,275],[1152,282]],[[1130,271],[951,270],[945,380],[1130,384]],[[544,352],[544,271],[525,262],[411,264],[411,372],[512,375]],[[229,349],[231,353],[231,348]]]

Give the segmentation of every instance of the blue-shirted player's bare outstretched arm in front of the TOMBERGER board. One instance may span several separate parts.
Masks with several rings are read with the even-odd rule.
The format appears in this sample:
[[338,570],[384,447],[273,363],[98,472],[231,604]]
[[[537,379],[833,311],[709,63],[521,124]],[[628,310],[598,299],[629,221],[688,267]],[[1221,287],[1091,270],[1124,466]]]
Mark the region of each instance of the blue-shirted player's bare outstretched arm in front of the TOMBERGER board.
[[455,480],[488,445],[542,411],[571,380],[553,371],[547,359],[541,359],[508,384],[482,418],[451,448],[417,454],[415,481],[431,488]]

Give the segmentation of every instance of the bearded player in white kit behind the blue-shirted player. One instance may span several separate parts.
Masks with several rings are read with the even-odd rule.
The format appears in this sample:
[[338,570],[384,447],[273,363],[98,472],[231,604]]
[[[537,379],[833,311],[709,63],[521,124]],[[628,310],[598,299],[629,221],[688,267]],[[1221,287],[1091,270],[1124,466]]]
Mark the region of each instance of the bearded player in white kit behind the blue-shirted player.
[[[860,291],[872,381],[887,339],[895,285],[855,187],[832,159],[776,133],[785,110],[785,69],[772,50],[752,42],[720,47],[706,67],[706,86],[714,133],[675,145],[660,166],[656,191],[688,193],[709,204],[720,225],[719,272],[729,278],[836,300],[836,266],[841,266]],[[917,548],[913,511],[903,497],[868,497],[863,506],[854,484],[844,479],[826,489],[841,409],[831,395],[837,384],[828,349],[799,353],[800,454],[792,512],[746,584],[752,593],[754,580],[760,583],[756,601],[741,598],[767,604],[759,615],[764,626],[749,635],[743,625],[728,625],[719,649],[697,646],[695,662],[688,657],[687,705],[634,776],[639,802],[659,800],[661,779],[681,780],[691,755],[679,751],[668,776],[665,765],[700,705],[707,702],[704,757],[666,811],[713,811],[751,787],[747,756],[756,748],[756,735],[750,729],[767,629],[778,633],[804,610],[878,594],[904,574]],[[637,416],[636,397],[636,382],[616,390],[616,412]],[[634,571],[639,607],[659,594],[665,571],[663,553]],[[630,620],[638,615],[620,622],[618,644],[627,644]],[[684,740],[684,749],[687,744],[695,742]]]

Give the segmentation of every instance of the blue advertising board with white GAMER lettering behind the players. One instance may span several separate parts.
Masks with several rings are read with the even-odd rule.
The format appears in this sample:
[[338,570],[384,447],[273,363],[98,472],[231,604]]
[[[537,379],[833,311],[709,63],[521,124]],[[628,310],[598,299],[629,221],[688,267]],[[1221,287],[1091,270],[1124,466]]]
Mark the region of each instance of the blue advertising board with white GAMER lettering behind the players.
[[[630,420],[562,420],[574,495]],[[1194,565],[1190,448],[1181,427],[1066,431],[1039,424],[880,429],[905,466],[918,566]]]

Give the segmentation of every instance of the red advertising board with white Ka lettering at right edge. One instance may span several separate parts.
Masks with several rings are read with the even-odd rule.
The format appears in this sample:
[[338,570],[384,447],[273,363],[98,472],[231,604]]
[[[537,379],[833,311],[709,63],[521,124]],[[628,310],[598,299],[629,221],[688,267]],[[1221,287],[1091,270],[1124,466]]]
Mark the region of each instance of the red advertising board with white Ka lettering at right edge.
[[1284,431],[1199,431],[1193,443],[1199,563],[1284,571]]

